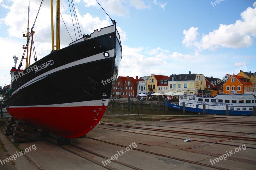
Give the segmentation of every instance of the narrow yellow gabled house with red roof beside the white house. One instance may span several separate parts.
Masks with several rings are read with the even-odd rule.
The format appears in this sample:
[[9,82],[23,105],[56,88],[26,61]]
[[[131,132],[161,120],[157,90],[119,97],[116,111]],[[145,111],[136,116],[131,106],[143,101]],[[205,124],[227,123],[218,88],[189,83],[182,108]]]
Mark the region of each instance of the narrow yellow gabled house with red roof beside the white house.
[[156,93],[157,84],[161,78],[166,77],[163,75],[151,74],[146,82],[146,92],[147,93]]

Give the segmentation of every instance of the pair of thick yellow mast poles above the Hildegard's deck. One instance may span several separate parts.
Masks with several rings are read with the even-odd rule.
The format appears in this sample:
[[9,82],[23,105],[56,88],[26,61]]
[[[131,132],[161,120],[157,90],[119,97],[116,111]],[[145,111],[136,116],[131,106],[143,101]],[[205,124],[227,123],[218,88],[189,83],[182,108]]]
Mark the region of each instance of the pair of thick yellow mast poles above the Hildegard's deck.
[[60,49],[60,0],[57,0],[56,5],[56,46],[54,46],[54,31],[53,31],[53,4],[51,0],[51,24],[52,24],[52,51]]

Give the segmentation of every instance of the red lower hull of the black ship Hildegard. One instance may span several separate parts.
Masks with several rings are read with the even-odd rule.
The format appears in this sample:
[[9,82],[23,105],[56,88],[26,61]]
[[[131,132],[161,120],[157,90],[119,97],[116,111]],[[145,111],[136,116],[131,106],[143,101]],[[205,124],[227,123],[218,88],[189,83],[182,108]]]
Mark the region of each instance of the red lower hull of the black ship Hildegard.
[[107,106],[15,107],[7,111],[14,119],[36,124],[39,129],[59,136],[74,138],[91,131],[106,109]]

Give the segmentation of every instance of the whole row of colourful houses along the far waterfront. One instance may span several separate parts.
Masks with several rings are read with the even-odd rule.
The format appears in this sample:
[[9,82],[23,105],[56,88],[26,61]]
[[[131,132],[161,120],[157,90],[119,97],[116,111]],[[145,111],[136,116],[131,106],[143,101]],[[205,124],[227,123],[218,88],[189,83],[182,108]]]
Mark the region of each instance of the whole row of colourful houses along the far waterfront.
[[240,70],[237,75],[226,74],[222,79],[204,77],[204,74],[151,74],[138,78],[119,76],[113,88],[113,95],[127,98],[140,93],[152,94],[155,92],[181,92],[183,94],[204,93],[205,90],[215,89],[220,93],[250,94],[256,92],[256,72]]

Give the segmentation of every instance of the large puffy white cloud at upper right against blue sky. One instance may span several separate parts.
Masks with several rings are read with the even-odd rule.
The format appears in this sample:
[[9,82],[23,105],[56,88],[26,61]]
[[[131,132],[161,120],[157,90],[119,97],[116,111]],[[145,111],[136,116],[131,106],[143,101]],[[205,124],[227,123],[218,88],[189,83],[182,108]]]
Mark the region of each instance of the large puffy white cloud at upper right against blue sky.
[[[255,6],[255,5],[254,5]],[[198,51],[217,48],[244,48],[250,47],[256,38],[256,8],[248,7],[241,13],[241,19],[236,23],[225,25],[220,24],[218,29],[202,36],[197,32],[198,28],[191,27],[184,30],[182,44],[187,48],[192,47]]]

